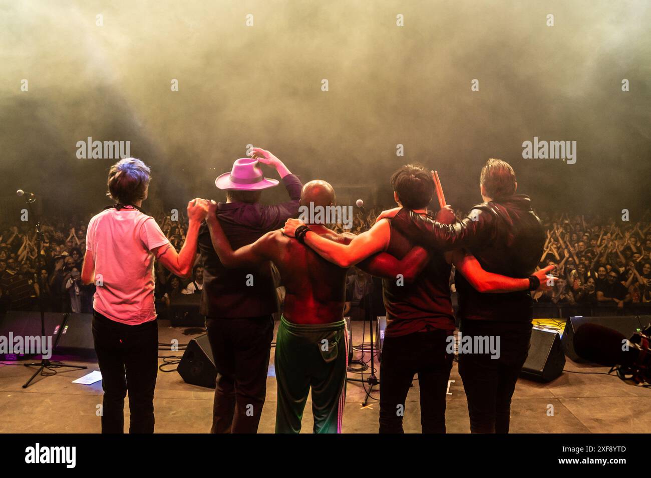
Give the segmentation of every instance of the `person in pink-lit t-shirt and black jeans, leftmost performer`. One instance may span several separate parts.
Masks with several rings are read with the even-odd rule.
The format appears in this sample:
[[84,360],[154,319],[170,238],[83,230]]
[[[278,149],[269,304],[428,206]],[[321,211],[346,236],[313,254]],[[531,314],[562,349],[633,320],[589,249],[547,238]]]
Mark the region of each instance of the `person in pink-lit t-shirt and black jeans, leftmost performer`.
[[124,432],[124,397],[129,393],[130,433],[154,432],[154,388],[158,373],[158,325],[154,308],[154,259],[187,277],[197,254],[206,208],[187,204],[186,242],[176,252],[156,220],[141,211],[150,169],[126,158],[111,166],[108,196],[116,204],[90,219],[81,271],[96,285],[92,335],[102,372],[102,433]]

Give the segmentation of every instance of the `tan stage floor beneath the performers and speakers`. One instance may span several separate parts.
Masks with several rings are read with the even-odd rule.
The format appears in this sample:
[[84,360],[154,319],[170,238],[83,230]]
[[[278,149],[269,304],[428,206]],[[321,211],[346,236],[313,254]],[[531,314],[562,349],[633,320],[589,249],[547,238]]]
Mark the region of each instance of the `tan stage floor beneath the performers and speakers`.
[[[353,345],[361,343],[361,322],[353,322]],[[278,324],[276,323],[276,330]],[[368,327],[367,327],[368,329]],[[184,328],[171,328],[169,322],[159,322],[159,339],[170,343],[178,339],[187,343],[193,336],[185,336]],[[368,332],[368,330],[367,330]],[[275,423],[276,380],[273,377],[273,353],[268,377],[267,399],[260,420],[260,432],[272,433]],[[180,355],[182,352],[161,352],[161,355]],[[355,358],[360,353],[355,352]],[[366,354],[368,359],[368,352]],[[20,362],[14,362],[19,363]],[[27,389],[21,385],[31,376],[32,369],[16,365],[0,365],[0,432],[100,432],[97,405],[102,403],[101,382],[86,386],[73,384],[72,380],[98,369],[97,364],[88,370],[59,369],[53,377],[38,377]],[[173,368],[169,367],[169,368]],[[624,384],[616,377],[583,375],[577,372],[607,372],[605,367],[575,364],[567,360],[566,372],[549,384],[518,380],[511,407],[511,431],[523,433],[626,433],[651,430],[651,390]],[[349,373],[349,377],[359,377]],[[381,371],[380,371],[381,376]],[[470,431],[464,388],[454,363],[447,397],[447,431]],[[418,381],[409,391],[405,417],[405,432],[420,432]],[[363,408],[365,392],[357,382],[348,382],[344,433],[376,433],[378,431],[378,401],[370,399]],[[372,397],[379,398],[378,388]],[[175,371],[159,373],[154,407],[156,432],[204,433],[210,430],[213,391],[186,384]],[[553,416],[547,416],[553,405]],[[128,417],[128,405],[125,405]],[[128,423],[128,418],[126,423]],[[128,429],[128,425],[126,425]],[[303,416],[303,431],[312,431],[311,402],[308,401]]]

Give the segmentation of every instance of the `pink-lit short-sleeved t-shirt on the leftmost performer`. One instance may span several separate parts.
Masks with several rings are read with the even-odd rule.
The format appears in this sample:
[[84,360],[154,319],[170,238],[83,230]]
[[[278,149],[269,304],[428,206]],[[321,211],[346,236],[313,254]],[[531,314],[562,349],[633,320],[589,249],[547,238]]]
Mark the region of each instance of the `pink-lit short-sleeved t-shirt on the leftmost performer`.
[[156,319],[151,250],[168,243],[156,220],[137,209],[105,209],[92,217],[86,250],[95,263],[93,308],[128,325]]

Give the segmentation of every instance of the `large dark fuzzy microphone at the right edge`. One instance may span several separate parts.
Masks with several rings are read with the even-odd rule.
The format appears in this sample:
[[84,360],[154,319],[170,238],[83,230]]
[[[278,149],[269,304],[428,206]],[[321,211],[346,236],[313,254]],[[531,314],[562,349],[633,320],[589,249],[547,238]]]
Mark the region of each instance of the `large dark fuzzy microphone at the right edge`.
[[622,380],[651,383],[649,330],[635,332],[628,340],[612,328],[584,324],[574,334],[574,350],[585,360],[616,369]]

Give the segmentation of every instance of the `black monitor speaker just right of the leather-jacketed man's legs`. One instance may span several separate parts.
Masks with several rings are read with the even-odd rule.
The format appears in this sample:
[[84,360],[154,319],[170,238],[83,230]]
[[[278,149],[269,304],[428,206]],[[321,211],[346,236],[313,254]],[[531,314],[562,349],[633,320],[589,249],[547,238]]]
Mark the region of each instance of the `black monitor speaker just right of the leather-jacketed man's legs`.
[[531,331],[529,356],[520,377],[536,382],[551,382],[559,377],[565,366],[561,338],[556,330],[534,328]]

